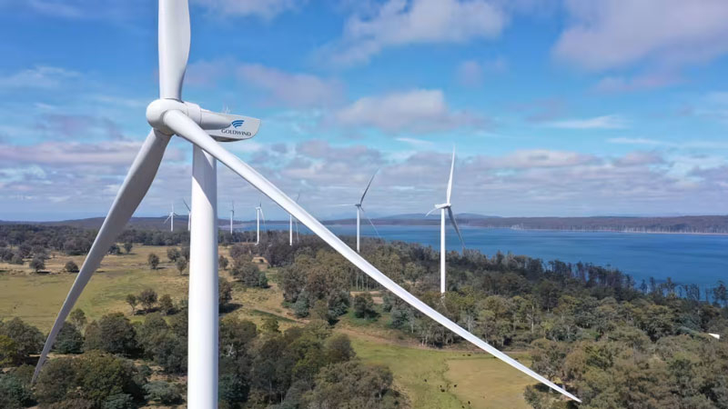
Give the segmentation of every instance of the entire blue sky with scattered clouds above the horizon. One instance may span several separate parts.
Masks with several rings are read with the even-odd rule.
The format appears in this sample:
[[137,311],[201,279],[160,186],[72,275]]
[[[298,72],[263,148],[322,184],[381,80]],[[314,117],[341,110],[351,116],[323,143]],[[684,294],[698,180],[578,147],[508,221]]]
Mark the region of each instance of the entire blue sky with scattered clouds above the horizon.
[[[726,214],[723,0],[191,0],[183,97],[319,217]],[[0,219],[106,214],[157,97],[157,2],[0,0]],[[174,140],[136,215],[189,196]],[[221,215],[260,195],[223,166]],[[284,214],[264,200],[268,217]],[[352,208],[353,211],[353,208]],[[184,212],[179,212],[184,213]]]

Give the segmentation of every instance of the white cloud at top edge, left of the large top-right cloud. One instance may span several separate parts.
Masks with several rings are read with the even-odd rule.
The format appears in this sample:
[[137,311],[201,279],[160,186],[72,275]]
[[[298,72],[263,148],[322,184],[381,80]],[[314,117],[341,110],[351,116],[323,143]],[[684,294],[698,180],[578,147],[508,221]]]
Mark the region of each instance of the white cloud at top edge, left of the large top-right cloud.
[[339,65],[367,62],[387,47],[457,44],[501,35],[508,16],[485,0],[389,0],[370,16],[355,15],[332,45]]

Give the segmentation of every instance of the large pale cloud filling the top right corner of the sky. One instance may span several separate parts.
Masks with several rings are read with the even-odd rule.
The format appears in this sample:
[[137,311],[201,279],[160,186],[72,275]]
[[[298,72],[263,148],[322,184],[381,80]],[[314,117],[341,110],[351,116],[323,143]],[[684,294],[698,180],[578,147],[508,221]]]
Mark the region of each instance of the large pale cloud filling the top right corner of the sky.
[[684,65],[728,52],[724,0],[567,0],[571,25],[553,54],[589,70],[643,60]]

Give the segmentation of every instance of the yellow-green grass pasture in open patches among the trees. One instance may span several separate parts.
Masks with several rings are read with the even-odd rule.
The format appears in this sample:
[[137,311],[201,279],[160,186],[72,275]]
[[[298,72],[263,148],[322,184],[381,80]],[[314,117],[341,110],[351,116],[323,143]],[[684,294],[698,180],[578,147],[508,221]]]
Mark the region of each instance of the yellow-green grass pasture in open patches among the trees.
[[[157,254],[162,260],[157,270],[152,271],[147,265],[149,253]],[[227,255],[227,249],[220,247],[220,254]],[[49,331],[76,278],[76,274],[58,273],[68,260],[74,260],[79,266],[83,263],[82,256],[55,254],[55,258],[46,262],[45,270],[50,274],[34,274],[27,265],[0,264],[0,318],[18,316],[41,331]],[[231,280],[227,272],[220,274]],[[281,305],[283,294],[278,290],[276,269],[268,269],[267,274],[270,284],[267,289],[233,284],[232,303],[236,308],[228,314],[256,324],[273,314],[278,316],[281,329],[303,323]],[[138,294],[146,288],[154,289],[159,295],[170,294],[176,302],[187,297],[187,275],[180,275],[168,263],[167,247],[136,245],[132,254],[107,255],[76,306],[90,319],[112,311],[129,314],[126,294]],[[132,319],[144,317],[136,315]],[[364,362],[389,366],[395,383],[408,395],[413,408],[528,407],[522,397],[523,388],[533,384],[528,376],[489,354],[422,348],[407,334],[390,329],[388,322],[388,314],[376,321],[347,314],[341,317],[336,328],[349,335]]]

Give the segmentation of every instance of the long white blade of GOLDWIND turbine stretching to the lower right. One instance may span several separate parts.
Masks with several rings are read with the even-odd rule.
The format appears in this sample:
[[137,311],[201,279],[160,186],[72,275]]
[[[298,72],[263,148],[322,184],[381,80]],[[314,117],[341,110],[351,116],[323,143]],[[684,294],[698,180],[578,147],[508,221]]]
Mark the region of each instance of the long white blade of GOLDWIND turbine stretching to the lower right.
[[501,351],[490,346],[490,344],[483,342],[477,336],[470,334],[468,331],[460,327],[460,325],[453,323],[445,315],[435,311],[432,307],[430,307],[430,305],[423,303],[419,298],[410,294],[407,290],[399,286],[399,284],[392,281],[388,276],[382,274],[377,267],[369,264],[367,260],[361,257],[361,255],[359,255],[356,251],[352,250],[349,245],[342,242],[336,234],[331,233],[331,231],[321,224],[315,217],[303,210],[301,206],[278,189],[276,185],[270,183],[268,179],[263,177],[263,175],[258,174],[255,169],[240,160],[238,156],[231,154],[222,147],[222,145],[219,145],[210,135],[207,135],[205,131],[195,124],[192,119],[187,117],[187,115],[184,115],[179,111],[170,111],[164,116],[164,122],[165,125],[169,126],[169,128],[177,135],[199,146],[202,150],[207,152],[207,154],[214,156],[230,170],[240,175],[251,185],[255,186],[263,195],[267,195],[270,200],[281,206],[286,212],[293,214],[293,216],[296,217],[302,224],[307,226],[314,234],[318,235],[321,239],[328,243],[339,254],[343,255],[352,264],[359,267],[359,269],[361,269],[364,273],[368,274],[390,292],[412,305],[422,314],[429,316],[453,333],[460,335],[470,343],[478,346],[483,351],[492,354],[506,364],[518,369],[523,374],[531,376],[533,379],[541,382],[541,384],[546,384],[551,387],[551,389],[558,391],[577,402],[581,402],[573,394],[570,394],[556,384],[553,384],[540,374],[536,374],[530,368],[514,360],[507,354],[501,353]]

